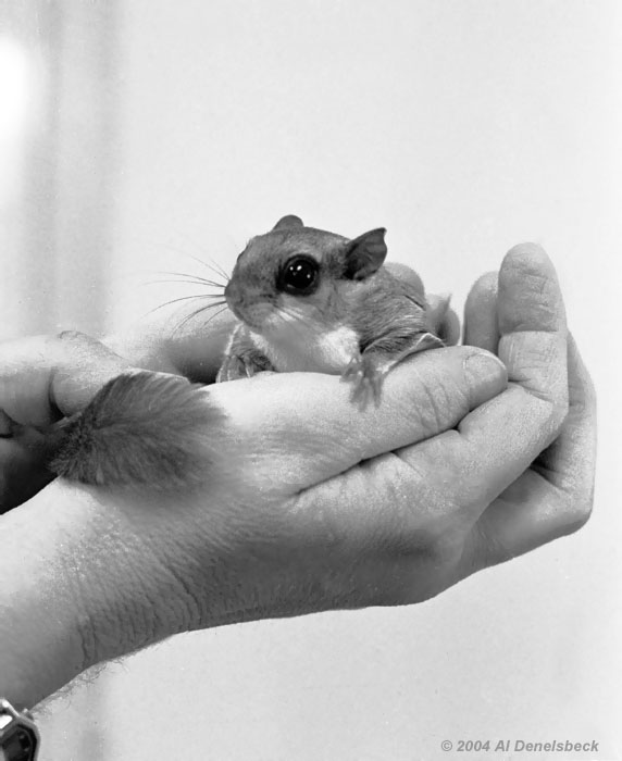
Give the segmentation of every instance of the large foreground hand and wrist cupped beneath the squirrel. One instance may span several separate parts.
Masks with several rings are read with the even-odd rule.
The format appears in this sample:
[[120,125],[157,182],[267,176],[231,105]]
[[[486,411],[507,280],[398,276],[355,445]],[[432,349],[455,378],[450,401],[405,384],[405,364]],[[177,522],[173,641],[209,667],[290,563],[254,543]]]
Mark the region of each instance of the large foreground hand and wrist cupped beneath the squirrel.
[[[364,412],[326,375],[222,384],[204,392],[225,415],[203,488],[57,482],[4,516],[0,536],[21,548],[37,633],[20,636],[25,613],[14,608],[0,625],[18,700],[33,704],[87,666],[176,632],[423,600],[580,525],[593,394],[574,349],[569,383],[555,272],[522,247],[503,262],[498,296],[486,283],[470,299],[467,336],[488,340],[497,322],[509,386],[501,364],[469,347],[396,367],[381,406]],[[550,488],[545,466],[563,476]],[[12,553],[0,557],[12,578]]]

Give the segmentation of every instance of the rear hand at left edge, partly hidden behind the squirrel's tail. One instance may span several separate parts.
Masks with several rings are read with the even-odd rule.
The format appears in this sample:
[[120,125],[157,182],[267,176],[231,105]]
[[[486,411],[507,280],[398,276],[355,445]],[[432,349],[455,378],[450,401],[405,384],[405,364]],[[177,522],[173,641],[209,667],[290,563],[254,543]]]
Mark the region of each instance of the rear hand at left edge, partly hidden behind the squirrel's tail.
[[[225,312],[186,322],[157,312],[102,341],[67,330],[0,344],[0,514],[30,499],[54,477],[47,469],[50,426],[82,410],[111,378],[135,369],[213,383],[233,326]],[[177,329],[179,324],[185,329]]]

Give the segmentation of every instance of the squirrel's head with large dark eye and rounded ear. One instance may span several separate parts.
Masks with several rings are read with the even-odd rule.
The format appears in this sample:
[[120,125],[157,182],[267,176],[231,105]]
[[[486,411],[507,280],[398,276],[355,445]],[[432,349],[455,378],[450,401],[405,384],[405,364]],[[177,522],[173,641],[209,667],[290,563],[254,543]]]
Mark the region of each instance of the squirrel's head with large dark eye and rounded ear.
[[257,333],[273,334],[314,323],[338,322],[344,299],[383,265],[384,227],[352,240],[306,227],[289,214],[239,254],[225,298],[234,314]]

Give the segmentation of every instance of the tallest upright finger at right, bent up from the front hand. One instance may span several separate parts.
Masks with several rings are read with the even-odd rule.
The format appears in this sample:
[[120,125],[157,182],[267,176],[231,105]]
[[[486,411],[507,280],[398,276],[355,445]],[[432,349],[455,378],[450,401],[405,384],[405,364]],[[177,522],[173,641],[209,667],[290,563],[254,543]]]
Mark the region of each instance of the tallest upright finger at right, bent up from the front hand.
[[[520,246],[499,272],[499,354],[510,387],[468,414],[457,432],[400,452],[451,489],[473,520],[558,436],[568,410],[567,332],[555,270]],[[563,352],[563,354],[562,354]]]

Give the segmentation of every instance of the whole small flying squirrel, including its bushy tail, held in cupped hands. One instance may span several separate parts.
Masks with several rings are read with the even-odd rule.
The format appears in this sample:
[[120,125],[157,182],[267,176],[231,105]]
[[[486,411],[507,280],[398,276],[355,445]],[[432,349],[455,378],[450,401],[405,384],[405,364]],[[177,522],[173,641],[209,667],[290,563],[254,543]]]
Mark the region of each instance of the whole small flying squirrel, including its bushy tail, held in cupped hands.
[[[378,402],[398,362],[444,346],[419,275],[385,265],[385,234],[378,227],[349,239],[288,215],[252,238],[225,287],[237,324],[216,382],[264,371],[338,374],[364,408]],[[147,371],[109,380],[55,426],[48,467],[101,486],[166,489],[204,479],[194,467],[197,441],[222,413],[198,401],[199,391],[186,378]]]

